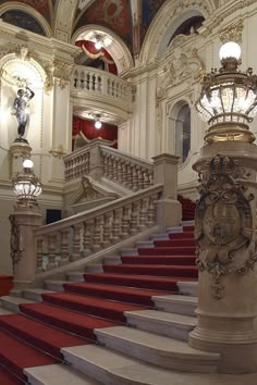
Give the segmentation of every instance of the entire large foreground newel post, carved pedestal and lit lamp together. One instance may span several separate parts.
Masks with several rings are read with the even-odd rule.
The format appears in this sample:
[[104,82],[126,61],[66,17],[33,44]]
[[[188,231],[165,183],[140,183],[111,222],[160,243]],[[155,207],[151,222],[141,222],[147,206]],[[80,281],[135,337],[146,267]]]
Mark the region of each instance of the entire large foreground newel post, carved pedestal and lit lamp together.
[[257,372],[257,76],[238,72],[240,46],[222,46],[222,67],[204,78],[196,108],[210,127],[200,158],[196,208],[198,324],[194,348],[220,352],[219,371]]

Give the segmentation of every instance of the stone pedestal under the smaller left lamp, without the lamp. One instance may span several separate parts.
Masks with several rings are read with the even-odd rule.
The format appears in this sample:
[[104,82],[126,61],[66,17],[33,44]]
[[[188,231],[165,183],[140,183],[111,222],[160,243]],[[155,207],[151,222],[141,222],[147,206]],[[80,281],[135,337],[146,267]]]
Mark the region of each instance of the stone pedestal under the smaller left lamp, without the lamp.
[[34,229],[41,225],[41,214],[37,207],[15,207],[10,215],[11,258],[13,261],[13,283],[11,295],[33,286],[36,274],[36,250]]

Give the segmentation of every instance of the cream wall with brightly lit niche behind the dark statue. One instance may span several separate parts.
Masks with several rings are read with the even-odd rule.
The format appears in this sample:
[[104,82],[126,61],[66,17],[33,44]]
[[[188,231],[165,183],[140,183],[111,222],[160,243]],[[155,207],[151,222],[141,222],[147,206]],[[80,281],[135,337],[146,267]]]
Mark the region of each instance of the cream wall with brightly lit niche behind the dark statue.
[[[0,274],[10,274],[9,215],[15,204],[11,186],[10,146],[17,137],[13,101],[20,88],[14,76],[29,77],[35,97],[29,101],[25,138],[32,147],[34,171],[42,183],[42,223],[46,209],[62,209],[63,156],[71,148],[70,75],[77,48],[46,38],[0,21]],[[20,36],[22,39],[20,39]],[[27,55],[21,55],[26,46]],[[35,76],[33,76],[35,75]],[[30,80],[29,80],[30,82]],[[15,161],[21,163],[24,154]],[[16,166],[15,166],[16,167]]]

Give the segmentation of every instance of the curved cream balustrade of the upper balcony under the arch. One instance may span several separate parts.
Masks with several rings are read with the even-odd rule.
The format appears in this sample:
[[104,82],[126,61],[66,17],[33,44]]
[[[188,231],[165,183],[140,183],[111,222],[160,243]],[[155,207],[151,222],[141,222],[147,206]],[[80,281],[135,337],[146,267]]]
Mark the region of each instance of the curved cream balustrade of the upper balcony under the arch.
[[71,78],[71,91],[94,92],[118,102],[132,103],[132,86],[109,72],[75,65]]

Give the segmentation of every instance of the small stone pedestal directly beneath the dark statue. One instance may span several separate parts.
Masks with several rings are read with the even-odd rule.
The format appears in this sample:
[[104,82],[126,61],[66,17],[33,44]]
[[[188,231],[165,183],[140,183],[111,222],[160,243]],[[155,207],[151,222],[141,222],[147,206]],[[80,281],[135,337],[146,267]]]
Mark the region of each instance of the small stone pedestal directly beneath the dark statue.
[[11,176],[16,175],[23,170],[24,159],[29,159],[32,153],[32,147],[23,141],[14,141],[10,146],[10,163],[11,163]]

